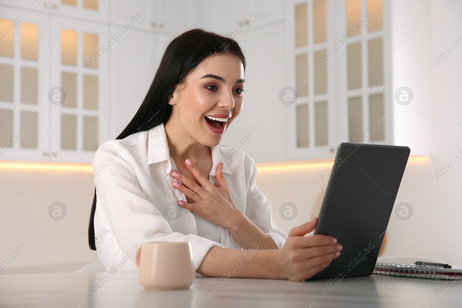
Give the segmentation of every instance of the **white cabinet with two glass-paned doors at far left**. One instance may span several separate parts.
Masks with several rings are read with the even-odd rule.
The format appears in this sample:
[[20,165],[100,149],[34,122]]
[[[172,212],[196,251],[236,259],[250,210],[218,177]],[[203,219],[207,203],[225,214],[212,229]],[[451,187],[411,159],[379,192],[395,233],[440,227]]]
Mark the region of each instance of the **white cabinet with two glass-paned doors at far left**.
[[[85,8],[67,7],[70,16],[63,16],[56,12],[58,6],[47,3],[36,6],[49,14],[26,10],[7,38],[12,39],[11,56],[8,46],[1,49],[0,69],[6,81],[2,92],[9,87],[14,92],[11,99],[0,97],[1,158],[91,162],[98,145],[108,138],[109,57],[98,49],[107,26],[79,19]],[[2,7],[2,23],[21,11]],[[26,133],[15,145],[15,135],[23,127]]]

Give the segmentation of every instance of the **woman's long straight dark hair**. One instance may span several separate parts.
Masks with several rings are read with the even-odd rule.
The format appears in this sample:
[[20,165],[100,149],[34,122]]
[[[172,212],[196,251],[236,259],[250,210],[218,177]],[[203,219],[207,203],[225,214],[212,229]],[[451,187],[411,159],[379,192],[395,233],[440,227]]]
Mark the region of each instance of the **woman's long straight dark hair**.
[[[124,139],[133,133],[147,131],[162,123],[165,124],[172,112],[172,106],[168,101],[175,85],[184,84],[188,74],[202,60],[219,54],[236,55],[241,59],[245,70],[244,54],[239,44],[232,38],[202,29],[188,30],[176,36],[165,49],[156,76],[152,80],[140,109],[116,139]],[[91,250],[96,250],[95,211],[96,188],[88,225],[88,244]]]

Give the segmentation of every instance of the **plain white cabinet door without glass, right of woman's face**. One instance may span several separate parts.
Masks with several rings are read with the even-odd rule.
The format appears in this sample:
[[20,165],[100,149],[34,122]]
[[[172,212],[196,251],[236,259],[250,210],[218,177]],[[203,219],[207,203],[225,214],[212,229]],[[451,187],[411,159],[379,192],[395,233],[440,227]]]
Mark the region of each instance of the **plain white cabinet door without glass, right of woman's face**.
[[[249,153],[257,162],[286,159],[286,123],[288,106],[279,100],[284,84],[284,25],[243,31],[237,37],[247,59],[244,105],[223,145]],[[255,136],[253,132],[255,133]],[[231,133],[232,132],[232,133]]]

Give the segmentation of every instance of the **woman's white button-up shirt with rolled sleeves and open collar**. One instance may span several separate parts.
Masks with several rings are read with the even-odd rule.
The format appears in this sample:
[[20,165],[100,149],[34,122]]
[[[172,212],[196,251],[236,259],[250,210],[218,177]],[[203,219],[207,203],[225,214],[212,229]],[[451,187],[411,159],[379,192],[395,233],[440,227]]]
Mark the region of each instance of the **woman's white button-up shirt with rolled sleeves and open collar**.
[[[252,157],[229,146],[213,146],[211,151],[210,181],[216,185],[215,169],[224,162],[225,180],[236,207],[282,248],[287,236],[276,228],[269,201],[255,184],[257,169]],[[186,196],[172,187],[172,170],[177,169],[163,124],[109,140],[97,149],[93,158],[94,226],[97,254],[106,271],[134,271],[131,252],[144,242],[191,242],[196,270],[213,246],[241,248],[227,229],[176,204],[186,201]]]

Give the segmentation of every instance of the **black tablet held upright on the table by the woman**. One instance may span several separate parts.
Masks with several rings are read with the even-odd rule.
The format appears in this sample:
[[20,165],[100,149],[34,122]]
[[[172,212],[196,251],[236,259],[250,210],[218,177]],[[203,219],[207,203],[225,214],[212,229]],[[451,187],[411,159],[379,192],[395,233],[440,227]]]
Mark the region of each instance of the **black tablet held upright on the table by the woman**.
[[334,236],[343,249],[309,280],[372,274],[409,152],[406,146],[339,146],[314,233]]

